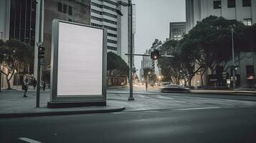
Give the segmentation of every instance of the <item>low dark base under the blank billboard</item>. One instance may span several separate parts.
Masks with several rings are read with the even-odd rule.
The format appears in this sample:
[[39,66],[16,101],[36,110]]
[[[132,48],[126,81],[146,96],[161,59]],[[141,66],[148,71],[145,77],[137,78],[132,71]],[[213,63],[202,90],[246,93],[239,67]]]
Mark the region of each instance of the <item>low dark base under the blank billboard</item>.
[[48,102],[48,108],[106,106],[106,102]]

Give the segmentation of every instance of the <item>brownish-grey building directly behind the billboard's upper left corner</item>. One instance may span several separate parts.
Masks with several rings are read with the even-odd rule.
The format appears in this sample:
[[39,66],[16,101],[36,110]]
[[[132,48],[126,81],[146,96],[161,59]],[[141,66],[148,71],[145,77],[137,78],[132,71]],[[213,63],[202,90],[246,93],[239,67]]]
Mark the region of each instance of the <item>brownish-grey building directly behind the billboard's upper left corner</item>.
[[[37,16],[39,17],[39,16]],[[60,19],[90,25],[90,0],[45,0],[44,1],[44,28],[43,40],[45,47],[44,65],[42,65],[42,78],[49,83],[52,51],[52,21]],[[39,23],[37,23],[37,26]],[[38,31],[37,31],[38,32]],[[38,33],[36,39],[38,39]],[[82,40],[82,39],[81,39]],[[37,54],[37,52],[35,52]],[[37,58],[37,56],[35,56]],[[34,62],[37,67],[37,63]],[[37,70],[37,68],[35,68]],[[34,73],[37,71],[34,70]]]

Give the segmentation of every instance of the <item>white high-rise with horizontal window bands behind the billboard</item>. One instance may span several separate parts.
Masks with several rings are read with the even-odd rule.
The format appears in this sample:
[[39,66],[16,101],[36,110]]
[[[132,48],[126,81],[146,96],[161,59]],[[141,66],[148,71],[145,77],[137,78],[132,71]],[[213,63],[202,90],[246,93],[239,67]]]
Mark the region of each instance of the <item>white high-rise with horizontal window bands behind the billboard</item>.
[[[123,16],[118,14],[117,10]],[[128,12],[128,0],[91,0],[91,25],[107,29],[108,51],[121,56],[127,64],[129,61],[125,54],[130,51]],[[133,5],[133,34],[135,34],[134,19],[135,6]]]

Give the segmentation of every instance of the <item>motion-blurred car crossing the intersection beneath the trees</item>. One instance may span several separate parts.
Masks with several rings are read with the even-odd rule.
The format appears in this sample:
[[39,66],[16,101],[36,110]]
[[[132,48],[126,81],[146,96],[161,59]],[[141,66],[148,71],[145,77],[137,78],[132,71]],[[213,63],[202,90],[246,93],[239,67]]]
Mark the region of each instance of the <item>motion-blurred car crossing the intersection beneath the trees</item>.
[[182,87],[176,84],[166,84],[161,87],[161,92],[190,92],[189,88]]

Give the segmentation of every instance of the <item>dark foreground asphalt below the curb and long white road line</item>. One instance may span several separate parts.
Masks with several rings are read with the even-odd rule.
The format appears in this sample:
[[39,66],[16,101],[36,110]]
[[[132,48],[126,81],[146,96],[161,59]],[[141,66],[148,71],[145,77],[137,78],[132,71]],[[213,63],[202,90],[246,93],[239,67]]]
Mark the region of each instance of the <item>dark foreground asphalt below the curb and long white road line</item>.
[[255,111],[194,108],[0,119],[0,142],[256,142]]

